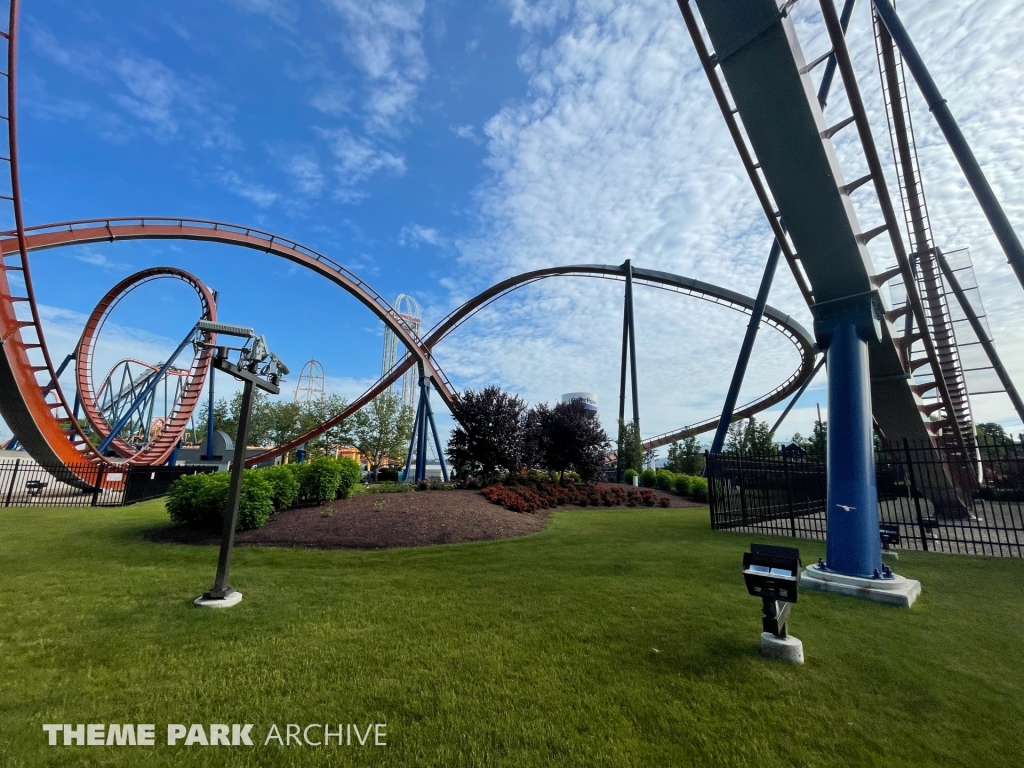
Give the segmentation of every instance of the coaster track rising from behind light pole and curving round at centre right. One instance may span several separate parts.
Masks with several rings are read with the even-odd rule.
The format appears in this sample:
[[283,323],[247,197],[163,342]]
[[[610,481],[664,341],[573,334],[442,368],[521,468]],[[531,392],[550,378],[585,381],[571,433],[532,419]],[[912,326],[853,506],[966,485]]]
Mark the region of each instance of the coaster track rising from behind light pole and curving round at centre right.
[[[498,299],[507,296],[513,291],[516,291],[524,286],[537,283],[541,280],[546,280],[548,278],[565,278],[565,276],[584,276],[584,278],[598,278],[604,280],[625,280],[625,272],[622,266],[614,266],[608,264],[574,264],[566,266],[556,266],[549,267],[546,269],[538,269],[530,272],[524,272],[522,274],[517,274],[508,280],[498,283],[482,293],[469,299],[467,302],[462,304],[460,307],[451,312],[446,317],[441,319],[437,325],[435,325],[430,331],[428,331],[423,340],[423,346],[427,349],[432,350],[437,344],[439,344],[445,337],[449,336],[453,331],[459,328],[467,319],[472,317],[477,312],[481,311],[485,307],[489,306],[493,302]],[[702,299],[721,306],[728,307],[737,311],[750,311],[754,306],[754,299],[749,296],[743,296],[742,294],[736,293],[735,291],[730,291],[725,288],[720,288],[718,286],[713,286],[710,283],[702,283],[701,281],[694,280],[692,278],[684,278],[679,274],[671,274],[669,272],[656,271],[653,269],[641,269],[636,266],[633,267],[633,280],[635,283],[641,283],[654,288],[660,288],[663,290],[673,291],[686,296],[693,296],[695,298]],[[768,394],[759,397],[753,402],[748,403],[741,409],[735,412],[735,418],[746,418],[753,416],[754,414],[760,413],[761,411],[770,408],[776,402],[780,402],[785,399],[790,394],[796,391],[801,384],[810,376],[811,371],[814,368],[814,355],[815,355],[815,344],[810,334],[793,317],[790,315],[775,309],[774,307],[765,307],[764,316],[762,322],[774,328],[776,331],[782,333],[793,344],[797,347],[801,354],[800,366],[797,371],[792,374],[782,384],[773,389]],[[415,364],[414,358],[407,355],[404,358],[399,360],[385,376],[382,376],[380,380],[377,381],[370,389],[364,392],[361,395],[356,397],[352,402],[350,402],[341,413],[336,414],[334,417],[324,422],[319,426],[313,428],[312,430],[306,432],[294,440],[279,445],[271,449],[265,453],[259,454],[247,460],[247,465],[254,465],[264,461],[273,459],[274,457],[281,456],[283,454],[292,451],[295,447],[303,444],[304,442],[313,439],[314,437],[323,434],[331,427],[340,424],[342,421],[347,419],[349,416],[353,415],[360,408],[370,402],[378,394],[386,390],[392,384],[394,384],[398,379],[404,375]],[[691,434],[700,434],[701,432],[707,432],[710,429],[714,429],[718,425],[719,417],[709,419],[706,421],[698,422],[696,424],[691,424],[681,429],[674,430],[672,432],[666,432],[665,434],[652,437],[644,442],[645,449],[658,447],[659,445],[666,445],[675,440],[681,439]]]

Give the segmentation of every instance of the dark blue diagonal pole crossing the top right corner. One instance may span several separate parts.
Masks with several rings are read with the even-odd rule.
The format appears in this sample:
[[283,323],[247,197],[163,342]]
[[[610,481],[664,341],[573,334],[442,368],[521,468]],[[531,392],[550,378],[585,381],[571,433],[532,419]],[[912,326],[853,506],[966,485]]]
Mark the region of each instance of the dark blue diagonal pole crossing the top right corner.
[[935,81],[932,80],[932,75],[925,66],[925,61],[918,52],[918,49],[914,47],[913,41],[910,40],[906,28],[903,27],[903,23],[896,15],[896,9],[889,0],[872,0],[872,3],[874,4],[874,11],[878,13],[879,19],[881,19],[882,24],[889,31],[889,35],[903,56],[904,63],[906,63],[907,69],[910,70],[910,74],[918,83],[918,88],[925,97],[925,101],[928,103],[928,109],[935,118],[935,122],[938,123],[939,130],[945,136],[946,143],[949,144],[953,157],[959,163],[961,170],[964,171],[964,176],[967,178],[968,184],[971,185],[971,190],[978,200],[978,205],[981,206],[985,218],[988,219],[988,223],[992,227],[995,239],[999,241],[1002,252],[1007,255],[1007,261],[1010,262],[1014,272],[1017,274],[1017,280],[1024,287],[1024,246],[1021,246],[1017,232],[1014,231],[1010,219],[1007,218],[1002,206],[999,205],[995,193],[992,191],[988,179],[985,178],[981,166],[974,157],[974,153],[971,152],[971,146],[968,144],[963,132],[961,132],[956,120],[946,104],[946,100],[942,97],[942,93],[939,92]]

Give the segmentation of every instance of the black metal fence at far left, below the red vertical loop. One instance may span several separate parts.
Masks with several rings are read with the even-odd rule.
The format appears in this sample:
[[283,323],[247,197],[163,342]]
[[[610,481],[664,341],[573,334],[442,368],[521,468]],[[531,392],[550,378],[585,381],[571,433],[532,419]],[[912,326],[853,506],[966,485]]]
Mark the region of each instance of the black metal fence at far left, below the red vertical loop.
[[0,462],[4,507],[120,507],[156,499],[182,475],[216,467],[41,466],[27,459]]

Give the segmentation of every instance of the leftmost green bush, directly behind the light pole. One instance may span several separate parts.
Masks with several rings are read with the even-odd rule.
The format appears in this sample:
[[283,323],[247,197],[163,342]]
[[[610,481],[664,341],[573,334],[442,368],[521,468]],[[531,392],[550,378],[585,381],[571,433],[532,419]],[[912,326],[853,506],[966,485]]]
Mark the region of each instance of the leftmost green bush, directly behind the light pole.
[[[179,477],[167,494],[167,511],[171,520],[209,528],[222,527],[230,483],[231,477],[227,472]],[[242,496],[234,529],[261,527],[272,512],[273,485],[260,474],[260,470],[247,470],[242,475]]]

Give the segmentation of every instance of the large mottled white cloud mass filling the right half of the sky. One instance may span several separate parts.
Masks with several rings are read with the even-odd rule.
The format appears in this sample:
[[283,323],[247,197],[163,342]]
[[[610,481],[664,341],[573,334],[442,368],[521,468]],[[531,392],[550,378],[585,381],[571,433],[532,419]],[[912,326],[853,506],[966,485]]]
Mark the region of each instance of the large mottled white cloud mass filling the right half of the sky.
[[[519,61],[529,78],[528,91],[484,126],[494,176],[478,190],[483,223],[477,236],[458,244],[458,275],[446,283],[454,290],[449,306],[439,311],[516,272],[553,264],[617,264],[627,257],[638,266],[756,293],[770,231],[675,5],[660,0],[574,5],[510,0],[509,6],[513,24],[529,35],[530,44]],[[1006,69],[1024,69],[1024,52],[1012,35],[999,34],[1000,29],[1024,26],[1024,9],[999,0],[970,12],[921,2],[908,2],[906,8],[901,12],[911,34],[919,45],[932,47],[934,74],[969,136],[979,137],[976,151],[1011,218],[1024,229],[1024,190],[1012,180],[1024,167],[1024,134],[1014,127],[1024,122],[1024,78]],[[821,52],[824,42],[820,22],[807,18],[814,10],[807,6],[801,11],[808,59]],[[532,36],[555,31],[562,20],[549,43]],[[861,88],[877,95],[866,4],[858,9],[854,26],[850,44]],[[971,40],[989,42],[976,46],[969,45]],[[920,97],[914,102],[915,130],[927,164],[933,222],[941,220],[939,243],[966,241],[975,246],[996,341],[1005,356],[1013,357],[1017,380],[1024,381],[1024,339],[1018,341],[1020,334],[1013,330],[1019,330],[1020,287],[993,248],[955,163],[919,102]],[[837,93],[829,102],[828,122],[848,114],[844,103]],[[888,154],[881,101],[869,108],[879,147]],[[838,137],[851,178],[860,175],[848,145],[855,138],[852,130]],[[869,199],[858,201],[857,208],[864,228],[876,225],[880,215]],[[885,249],[872,243],[876,250],[882,266]],[[637,301],[644,434],[714,416],[721,408],[744,318],[649,289],[638,289]],[[595,390],[606,426],[613,426],[621,302],[618,285],[585,280],[539,283],[459,329],[438,349],[438,359],[459,382],[500,383],[531,400],[550,400],[574,389]],[[809,312],[784,267],[770,302],[810,328]],[[740,401],[773,388],[795,367],[796,353],[788,343],[763,330]],[[979,402],[979,418],[996,413]],[[798,429],[807,432],[809,421],[802,420],[813,413],[808,403],[813,399],[802,402],[780,436]],[[777,412],[769,416],[772,421]],[[1011,413],[1005,401],[998,413]]]

